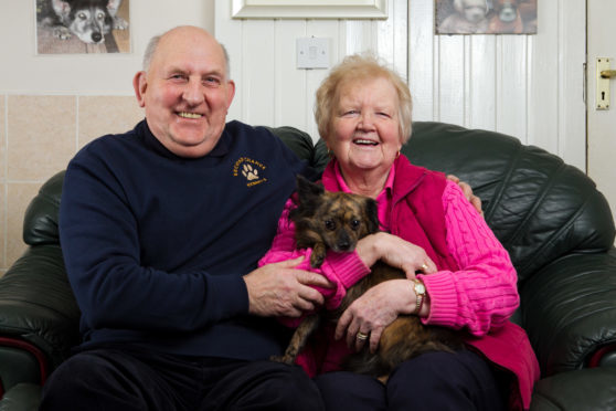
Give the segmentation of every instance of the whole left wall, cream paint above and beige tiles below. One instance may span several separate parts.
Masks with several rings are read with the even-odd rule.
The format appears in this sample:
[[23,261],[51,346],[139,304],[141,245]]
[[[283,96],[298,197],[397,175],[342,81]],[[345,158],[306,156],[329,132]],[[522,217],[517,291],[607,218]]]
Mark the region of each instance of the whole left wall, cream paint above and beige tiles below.
[[23,214],[41,185],[92,139],[142,118],[131,80],[151,35],[214,32],[214,0],[130,0],[131,53],[36,55],[34,3],[0,0],[0,275],[25,250]]

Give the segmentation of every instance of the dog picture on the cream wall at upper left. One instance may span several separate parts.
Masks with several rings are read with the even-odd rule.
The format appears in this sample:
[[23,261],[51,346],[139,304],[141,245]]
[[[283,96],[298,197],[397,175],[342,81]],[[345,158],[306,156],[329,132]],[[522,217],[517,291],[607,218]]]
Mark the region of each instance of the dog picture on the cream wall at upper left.
[[130,53],[130,0],[34,0],[38,54]]

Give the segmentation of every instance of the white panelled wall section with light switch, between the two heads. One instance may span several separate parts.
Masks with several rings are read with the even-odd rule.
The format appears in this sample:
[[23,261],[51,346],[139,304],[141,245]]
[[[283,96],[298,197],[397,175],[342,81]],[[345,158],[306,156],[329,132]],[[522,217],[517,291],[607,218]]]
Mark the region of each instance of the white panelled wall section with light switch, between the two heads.
[[230,117],[248,124],[295,126],[318,136],[315,91],[327,70],[296,68],[296,39],[330,39],[330,61],[373,50],[404,76],[407,0],[389,0],[387,20],[232,20],[230,1],[216,1],[216,38],[231,56],[237,85]]

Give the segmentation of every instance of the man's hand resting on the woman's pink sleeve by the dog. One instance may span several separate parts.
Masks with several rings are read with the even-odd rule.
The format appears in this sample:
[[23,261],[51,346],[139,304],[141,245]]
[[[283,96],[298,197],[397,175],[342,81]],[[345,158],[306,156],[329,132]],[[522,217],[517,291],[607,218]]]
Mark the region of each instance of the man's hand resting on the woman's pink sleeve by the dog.
[[295,270],[304,257],[264,265],[244,276],[249,308],[254,315],[299,317],[323,304],[323,296],[311,286],[330,288],[320,274]]

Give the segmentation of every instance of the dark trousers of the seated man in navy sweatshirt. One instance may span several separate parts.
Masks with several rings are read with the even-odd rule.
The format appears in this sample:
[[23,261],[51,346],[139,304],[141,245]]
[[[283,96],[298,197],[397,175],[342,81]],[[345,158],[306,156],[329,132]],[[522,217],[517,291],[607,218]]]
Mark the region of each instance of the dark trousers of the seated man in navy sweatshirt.
[[272,361],[193,359],[98,348],[63,362],[41,410],[322,410],[304,370]]

